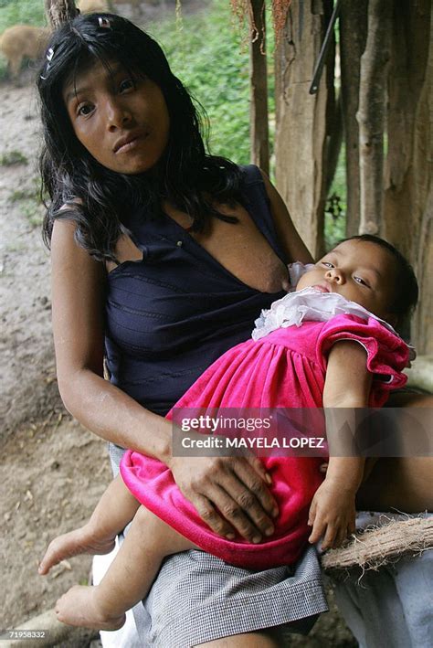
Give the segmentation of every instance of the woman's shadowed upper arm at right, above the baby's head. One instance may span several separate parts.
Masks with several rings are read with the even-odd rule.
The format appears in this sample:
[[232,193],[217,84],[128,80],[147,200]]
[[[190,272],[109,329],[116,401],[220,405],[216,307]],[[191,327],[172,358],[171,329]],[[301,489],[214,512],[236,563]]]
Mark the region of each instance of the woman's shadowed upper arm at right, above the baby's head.
[[290,218],[289,210],[285,206],[283,199],[280,197],[275,186],[269,180],[268,175],[261,171],[269,197],[270,211],[274,221],[277,237],[281,248],[286,253],[290,261],[302,261],[302,263],[312,263],[312,255],[302,242],[302,239]]

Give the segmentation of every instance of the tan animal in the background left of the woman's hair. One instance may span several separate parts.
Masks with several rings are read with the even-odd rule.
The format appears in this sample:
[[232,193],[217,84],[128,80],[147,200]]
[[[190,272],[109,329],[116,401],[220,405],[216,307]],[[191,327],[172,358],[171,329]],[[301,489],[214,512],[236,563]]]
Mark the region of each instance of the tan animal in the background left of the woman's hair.
[[8,27],[0,37],[0,52],[7,58],[11,79],[16,79],[23,58],[37,60],[47,47],[49,30],[46,27],[15,25]]

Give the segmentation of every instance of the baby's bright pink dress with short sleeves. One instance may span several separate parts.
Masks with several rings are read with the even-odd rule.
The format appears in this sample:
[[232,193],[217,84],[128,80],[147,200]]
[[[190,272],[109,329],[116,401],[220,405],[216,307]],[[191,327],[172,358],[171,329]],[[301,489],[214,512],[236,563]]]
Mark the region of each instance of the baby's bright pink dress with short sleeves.
[[[406,383],[401,371],[407,366],[407,345],[374,317],[338,314],[326,322],[277,328],[229,349],[175,408],[321,408],[328,353],[335,342],[347,339],[364,346],[367,368],[375,375],[369,406],[381,407],[391,389]],[[262,461],[272,477],[270,491],[280,515],[274,535],[259,545],[240,536],[230,541],[211,531],[164,463],[127,451],[121,476],[137,500],[208,553],[243,568],[290,565],[300,558],[311,533],[308,512],[322,483],[318,468],[323,459],[269,456]]]

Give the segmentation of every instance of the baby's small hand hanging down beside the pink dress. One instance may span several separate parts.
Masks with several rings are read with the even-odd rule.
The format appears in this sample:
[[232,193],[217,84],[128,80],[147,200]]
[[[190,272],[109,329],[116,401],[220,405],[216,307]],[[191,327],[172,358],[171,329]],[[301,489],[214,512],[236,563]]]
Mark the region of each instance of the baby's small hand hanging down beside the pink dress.
[[312,526],[308,541],[314,544],[322,537],[322,549],[340,547],[354,533],[354,491],[342,483],[326,480],[312,498],[308,524]]

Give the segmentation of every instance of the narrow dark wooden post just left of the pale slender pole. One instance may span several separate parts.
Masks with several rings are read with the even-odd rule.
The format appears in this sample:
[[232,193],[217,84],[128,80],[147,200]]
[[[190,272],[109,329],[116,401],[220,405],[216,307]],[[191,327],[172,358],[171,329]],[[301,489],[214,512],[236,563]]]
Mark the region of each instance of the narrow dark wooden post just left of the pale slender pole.
[[359,105],[361,56],[367,38],[367,0],[342,0],[340,9],[340,60],[342,112],[346,154],[346,236],[358,233],[359,200]]

